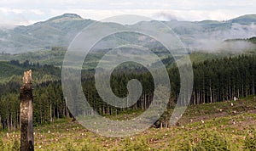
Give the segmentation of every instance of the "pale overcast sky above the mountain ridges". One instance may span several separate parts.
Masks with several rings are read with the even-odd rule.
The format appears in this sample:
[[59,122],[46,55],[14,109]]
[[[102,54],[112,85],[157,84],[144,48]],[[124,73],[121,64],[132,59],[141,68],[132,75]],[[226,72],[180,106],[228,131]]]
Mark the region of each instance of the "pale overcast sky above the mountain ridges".
[[102,20],[139,14],[154,20],[230,20],[256,14],[256,0],[1,0],[0,25],[30,25],[64,13]]

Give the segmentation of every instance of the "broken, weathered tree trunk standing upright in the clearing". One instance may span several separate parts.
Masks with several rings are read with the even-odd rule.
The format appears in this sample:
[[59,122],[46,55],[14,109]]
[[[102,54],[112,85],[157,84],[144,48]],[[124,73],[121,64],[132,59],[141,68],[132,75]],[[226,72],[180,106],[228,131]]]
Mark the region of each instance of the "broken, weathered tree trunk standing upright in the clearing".
[[34,150],[32,70],[25,71],[20,87],[20,151]]

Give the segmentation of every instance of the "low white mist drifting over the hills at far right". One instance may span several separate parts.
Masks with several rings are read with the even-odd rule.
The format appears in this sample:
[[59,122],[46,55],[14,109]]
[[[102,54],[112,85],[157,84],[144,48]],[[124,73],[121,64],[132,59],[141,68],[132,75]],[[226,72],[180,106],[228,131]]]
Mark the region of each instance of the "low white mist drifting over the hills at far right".
[[255,48],[255,45],[243,41],[224,41],[227,39],[245,39],[252,36],[256,36],[256,25],[232,24],[229,30],[199,32],[192,35],[193,42],[188,44],[187,47],[192,50],[207,52],[232,51],[237,53]]

